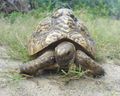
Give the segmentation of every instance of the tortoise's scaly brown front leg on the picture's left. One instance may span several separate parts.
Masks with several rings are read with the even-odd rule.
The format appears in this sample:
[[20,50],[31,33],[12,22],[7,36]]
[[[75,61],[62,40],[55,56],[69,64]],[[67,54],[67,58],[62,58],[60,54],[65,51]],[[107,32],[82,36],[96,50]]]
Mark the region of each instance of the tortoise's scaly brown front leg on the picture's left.
[[54,51],[46,51],[38,58],[20,66],[21,74],[35,75],[39,69],[45,69],[55,64]]

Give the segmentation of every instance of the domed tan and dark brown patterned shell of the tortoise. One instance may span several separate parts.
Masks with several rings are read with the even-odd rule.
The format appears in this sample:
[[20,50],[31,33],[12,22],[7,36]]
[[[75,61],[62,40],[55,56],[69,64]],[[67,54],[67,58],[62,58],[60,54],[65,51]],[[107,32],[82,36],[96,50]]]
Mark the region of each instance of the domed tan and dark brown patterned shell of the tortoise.
[[58,9],[51,17],[40,22],[29,39],[28,52],[34,55],[62,39],[75,42],[86,54],[94,57],[95,43],[87,28],[77,20],[72,10],[66,8]]

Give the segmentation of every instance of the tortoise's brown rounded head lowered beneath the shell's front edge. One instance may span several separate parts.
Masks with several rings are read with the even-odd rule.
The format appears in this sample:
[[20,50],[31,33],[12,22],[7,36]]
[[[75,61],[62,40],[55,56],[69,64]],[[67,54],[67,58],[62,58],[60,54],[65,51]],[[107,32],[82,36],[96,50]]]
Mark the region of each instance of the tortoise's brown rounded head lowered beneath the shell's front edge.
[[56,62],[60,67],[68,66],[75,57],[75,46],[70,42],[62,42],[55,48]]

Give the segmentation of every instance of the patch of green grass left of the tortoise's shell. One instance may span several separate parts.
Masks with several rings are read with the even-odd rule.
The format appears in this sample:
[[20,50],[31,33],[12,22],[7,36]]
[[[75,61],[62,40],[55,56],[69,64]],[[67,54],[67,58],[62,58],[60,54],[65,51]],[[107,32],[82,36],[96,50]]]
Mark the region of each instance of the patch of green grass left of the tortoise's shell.
[[22,61],[29,59],[26,46],[27,39],[40,19],[43,18],[42,16],[38,19],[27,14],[20,14],[17,17],[12,14],[12,16],[0,19],[0,42],[9,46],[8,54],[11,58]]

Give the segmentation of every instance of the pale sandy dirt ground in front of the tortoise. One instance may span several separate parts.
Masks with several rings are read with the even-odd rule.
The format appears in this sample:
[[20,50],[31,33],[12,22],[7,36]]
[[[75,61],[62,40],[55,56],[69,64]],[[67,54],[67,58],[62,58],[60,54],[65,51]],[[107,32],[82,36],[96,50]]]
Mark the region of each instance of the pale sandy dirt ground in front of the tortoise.
[[86,77],[68,83],[58,75],[21,79],[16,73],[20,64],[0,47],[0,96],[120,96],[119,60],[101,64],[106,72],[102,78]]

